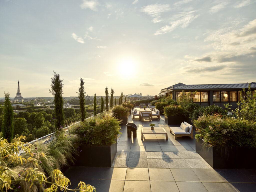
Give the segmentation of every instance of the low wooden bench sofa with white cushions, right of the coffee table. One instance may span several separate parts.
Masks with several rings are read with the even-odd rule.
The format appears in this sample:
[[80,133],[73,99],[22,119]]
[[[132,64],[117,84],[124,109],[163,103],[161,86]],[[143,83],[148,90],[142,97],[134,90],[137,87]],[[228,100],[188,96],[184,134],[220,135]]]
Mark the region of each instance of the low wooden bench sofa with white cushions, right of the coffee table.
[[170,133],[174,134],[175,139],[177,136],[190,136],[193,139],[193,126],[184,121],[180,127],[170,127]]

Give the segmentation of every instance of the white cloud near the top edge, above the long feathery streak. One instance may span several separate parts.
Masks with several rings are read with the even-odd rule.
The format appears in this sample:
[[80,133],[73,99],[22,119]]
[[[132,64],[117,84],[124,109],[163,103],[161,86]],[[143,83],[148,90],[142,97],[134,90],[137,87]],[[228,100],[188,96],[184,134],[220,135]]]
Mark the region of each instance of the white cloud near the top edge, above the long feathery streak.
[[161,18],[161,13],[170,11],[170,5],[168,4],[153,4],[153,5],[147,5],[141,8],[141,12],[147,13],[151,17],[153,17],[152,22],[158,23],[163,21],[164,19]]

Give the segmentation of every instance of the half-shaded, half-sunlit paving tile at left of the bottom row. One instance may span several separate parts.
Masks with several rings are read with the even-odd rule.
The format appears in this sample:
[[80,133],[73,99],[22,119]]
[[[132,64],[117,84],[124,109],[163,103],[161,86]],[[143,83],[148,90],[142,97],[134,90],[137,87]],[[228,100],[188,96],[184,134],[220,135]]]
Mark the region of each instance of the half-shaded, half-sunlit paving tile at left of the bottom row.
[[123,192],[124,182],[121,180],[101,180],[97,192]]

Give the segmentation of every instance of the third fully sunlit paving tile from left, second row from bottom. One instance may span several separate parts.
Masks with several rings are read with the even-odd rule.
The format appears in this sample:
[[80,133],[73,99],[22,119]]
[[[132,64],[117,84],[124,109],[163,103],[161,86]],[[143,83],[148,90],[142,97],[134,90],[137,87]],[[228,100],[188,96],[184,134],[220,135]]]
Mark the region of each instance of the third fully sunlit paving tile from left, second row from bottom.
[[192,169],[170,169],[175,181],[199,181]]

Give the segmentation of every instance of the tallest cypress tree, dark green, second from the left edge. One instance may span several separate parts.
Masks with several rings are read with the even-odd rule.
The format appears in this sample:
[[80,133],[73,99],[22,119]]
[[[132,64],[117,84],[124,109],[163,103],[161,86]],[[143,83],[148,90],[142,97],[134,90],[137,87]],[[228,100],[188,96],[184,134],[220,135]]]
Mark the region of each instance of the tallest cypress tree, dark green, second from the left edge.
[[[54,71],[53,71],[54,72]],[[60,79],[60,74],[55,73],[53,74],[54,77],[51,78],[51,89],[49,89],[49,92],[54,97],[54,103],[55,103],[55,129],[56,129],[56,135],[59,134],[61,131],[59,128],[64,125],[64,112],[63,112],[63,91],[62,88],[64,87],[64,84],[62,83],[63,79]]]

